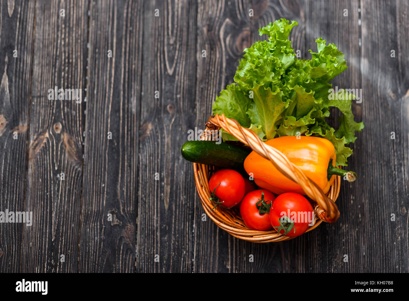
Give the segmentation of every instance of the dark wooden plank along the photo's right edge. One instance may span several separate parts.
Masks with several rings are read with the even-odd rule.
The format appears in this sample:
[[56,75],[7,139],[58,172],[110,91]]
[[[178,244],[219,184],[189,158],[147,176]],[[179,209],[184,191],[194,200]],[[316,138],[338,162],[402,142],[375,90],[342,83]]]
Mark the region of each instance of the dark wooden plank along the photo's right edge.
[[[406,16],[405,16],[406,13]],[[360,203],[365,272],[408,272],[408,3],[362,1]],[[391,56],[395,50],[395,57]],[[391,139],[395,132],[396,139]],[[396,221],[391,221],[391,214]]]

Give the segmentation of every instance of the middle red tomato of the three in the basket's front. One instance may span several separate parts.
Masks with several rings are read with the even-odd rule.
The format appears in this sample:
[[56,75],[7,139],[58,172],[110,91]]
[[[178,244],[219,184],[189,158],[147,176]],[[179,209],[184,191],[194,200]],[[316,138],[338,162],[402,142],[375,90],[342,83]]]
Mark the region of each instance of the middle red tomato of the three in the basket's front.
[[[275,196],[267,190],[254,190],[247,193],[240,202],[240,215],[243,218],[243,222],[252,230],[268,231],[273,229],[270,222],[270,215],[265,212],[259,213],[259,209],[256,204],[261,200],[261,194],[266,204],[271,204],[274,201]],[[268,208],[270,210],[270,208]]]

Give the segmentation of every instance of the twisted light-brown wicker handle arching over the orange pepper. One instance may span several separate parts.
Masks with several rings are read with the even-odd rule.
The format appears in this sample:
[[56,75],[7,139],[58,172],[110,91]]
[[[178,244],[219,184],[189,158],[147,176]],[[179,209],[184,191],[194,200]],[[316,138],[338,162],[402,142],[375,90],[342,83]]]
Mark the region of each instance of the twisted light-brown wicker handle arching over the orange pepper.
[[256,153],[269,159],[286,177],[298,183],[308,197],[316,201],[318,206],[322,208],[323,211],[319,214],[321,220],[333,223],[338,219],[339,211],[337,205],[324,194],[321,188],[311,181],[299,167],[291,163],[282,152],[263,143],[254,131],[241,127],[236,120],[226,118],[224,114],[221,116],[218,114],[214,117],[211,116],[206,126],[210,129],[212,125],[222,128],[227,133],[235,136],[242,143],[251,147]]

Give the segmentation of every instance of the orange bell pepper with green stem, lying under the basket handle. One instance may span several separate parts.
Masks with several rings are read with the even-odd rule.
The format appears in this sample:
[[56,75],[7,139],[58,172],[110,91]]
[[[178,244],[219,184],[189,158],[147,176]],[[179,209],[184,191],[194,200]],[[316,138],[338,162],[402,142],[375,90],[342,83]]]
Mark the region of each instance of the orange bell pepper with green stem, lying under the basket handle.
[[[327,193],[336,175],[355,181],[355,172],[347,172],[335,167],[335,147],[325,138],[312,136],[283,136],[265,141],[278,149],[290,162],[297,165],[308,178]],[[275,194],[297,192],[306,195],[301,186],[279,172],[270,160],[251,152],[244,161],[247,174],[252,173],[257,186]]]

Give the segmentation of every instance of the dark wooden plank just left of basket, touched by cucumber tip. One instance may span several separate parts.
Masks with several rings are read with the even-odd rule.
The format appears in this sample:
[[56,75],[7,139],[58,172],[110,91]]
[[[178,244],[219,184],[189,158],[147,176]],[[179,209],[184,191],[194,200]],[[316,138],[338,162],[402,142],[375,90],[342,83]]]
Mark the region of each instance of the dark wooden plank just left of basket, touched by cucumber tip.
[[193,271],[198,199],[180,147],[204,110],[194,101],[196,9],[194,1],[144,2],[137,272]]

